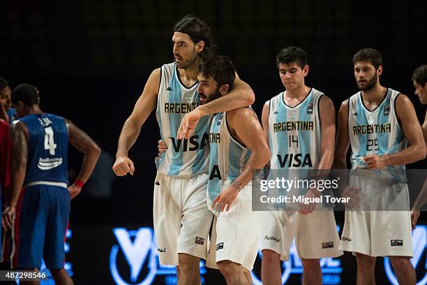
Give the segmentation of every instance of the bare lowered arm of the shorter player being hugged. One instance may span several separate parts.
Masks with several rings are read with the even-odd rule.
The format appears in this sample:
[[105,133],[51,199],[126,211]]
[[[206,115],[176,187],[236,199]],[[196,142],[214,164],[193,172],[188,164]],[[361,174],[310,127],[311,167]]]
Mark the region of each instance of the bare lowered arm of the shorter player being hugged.
[[230,206],[236,200],[239,190],[252,180],[253,170],[264,168],[271,156],[269,145],[264,138],[262,126],[258,122],[253,110],[240,108],[227,112],[227,123],[232,136],[238,138],[239,142],[246,145],[250,149],[251,154],[241,175],[212,201],[212,208],[216,208],[216,210],[220,209],[222,212],[230,210]]

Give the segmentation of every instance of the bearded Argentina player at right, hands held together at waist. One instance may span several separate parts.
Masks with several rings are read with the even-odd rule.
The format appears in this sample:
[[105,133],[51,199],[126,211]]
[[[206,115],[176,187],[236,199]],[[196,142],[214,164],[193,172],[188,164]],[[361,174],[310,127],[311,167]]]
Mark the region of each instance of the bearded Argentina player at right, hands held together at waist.
[[[410,99],[380,85],[380,52],[372,48],[359,50],[353,64],[360,92],[340,106],[334,168],[347,168],[350,145],[352,170],[364,172],[365,177],[383,170],[404,170],[405,164],[424,159],[426,145]],[[369,198],[389,193],[386,187],[373,188],[364,183],[357,186],[370,193]],[[407,189],[398,193],[405,198]],[[412,238],[407,210],[347,210],[340,249],[352,251],[357,257],[357,284],[375,284],[376,256],[389,256],[399,284],[416,283],[410,261]]]

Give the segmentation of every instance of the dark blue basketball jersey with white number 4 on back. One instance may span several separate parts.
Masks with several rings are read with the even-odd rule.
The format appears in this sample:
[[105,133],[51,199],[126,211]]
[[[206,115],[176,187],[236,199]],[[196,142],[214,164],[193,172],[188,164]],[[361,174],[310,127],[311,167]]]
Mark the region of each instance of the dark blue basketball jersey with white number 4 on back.
[[65,119],[43,113],[20,119],[28,129],[25,184],[49,181],[68,184],[68,130]]

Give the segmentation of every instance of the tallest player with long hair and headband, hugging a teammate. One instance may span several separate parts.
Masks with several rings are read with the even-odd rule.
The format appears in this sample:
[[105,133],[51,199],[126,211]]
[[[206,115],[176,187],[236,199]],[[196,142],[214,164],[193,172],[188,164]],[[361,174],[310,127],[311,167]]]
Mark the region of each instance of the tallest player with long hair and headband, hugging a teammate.
[[133,175],[135,166],[128,157],[147,117],[156,109],[160,136],[169,146],[156,161],[153,224],[161,264],[179,265],[178,284],[200,284],[199,259],[207,258],[207,236],[212,213],[206,207],[208,133],[210,116],[197,124],[195,134],[179,140],[177,131],[187,112],[204,114],[248,106],[255,96],[236,77],[228,96],[203,106],[197,94],[197,75],[205,57],[211,54],[212,39],[207,24],[187,15],[174,26],[175,61],[154,70],[121,130],[114,173]]

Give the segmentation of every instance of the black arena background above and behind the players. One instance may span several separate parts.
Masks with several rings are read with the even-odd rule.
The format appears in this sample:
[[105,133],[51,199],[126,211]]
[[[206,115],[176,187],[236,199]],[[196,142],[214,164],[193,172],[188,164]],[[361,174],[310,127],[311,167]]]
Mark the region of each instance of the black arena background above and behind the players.
[[[45,112],[68,117],[114,157],[121,126],[149,74],[173,59],[174,23],[194,13],[209,23],[220,53],[232,57],[239,76],[253,88],[259,116],[264,101],[283,90],[276,54],[297,45],[308,54],[306,84],[329,95],[337,112],[340,102],[357,92],[352,55],[363,47],[376,48],[384,61],[382,85],[407,94],[422,120],[426,108],[414,96],[411,75],[427,63],[426,3],[3,1],[0,76],[12,89],[22,82],[36,85]],[[151,115],[130,151],[135,175],[114,180],[112,194],[103,198],[83,191],[72,203],[71,228],[152,224],[158,138]],[[70,149],[71,182],[81,158]],[[426,168],[426,161],[410,167]],[[111,170],[101,180],[103,175],[110,177]]]

